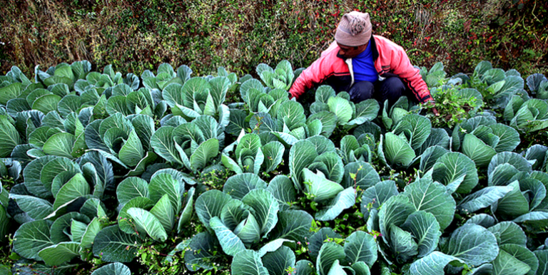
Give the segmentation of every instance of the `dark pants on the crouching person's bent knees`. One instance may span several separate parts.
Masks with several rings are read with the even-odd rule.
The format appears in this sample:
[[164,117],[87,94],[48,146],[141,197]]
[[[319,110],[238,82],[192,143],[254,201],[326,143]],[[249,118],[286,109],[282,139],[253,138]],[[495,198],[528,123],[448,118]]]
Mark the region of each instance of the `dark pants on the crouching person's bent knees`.
[[353,103],[359,103],[369,98],[375,98],[382,106],[388,100],[388,106],[394,104],[402,95],[405,95],[405,85],[396,76],[377,81],[375,84],[369,81],[354,83],[348,92]]

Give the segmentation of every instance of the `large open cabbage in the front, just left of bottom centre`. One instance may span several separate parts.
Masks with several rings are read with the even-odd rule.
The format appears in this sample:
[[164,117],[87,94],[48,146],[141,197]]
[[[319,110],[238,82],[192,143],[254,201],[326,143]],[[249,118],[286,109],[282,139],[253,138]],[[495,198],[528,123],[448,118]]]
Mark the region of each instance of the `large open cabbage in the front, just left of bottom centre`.
[[293,254],[283,244],[305,242],[313,218],[300,210],[280,209],[278,199],[287,196],[280,187],[288,185],[287,177],[275,177],[267,185],[258,175],[243,173],[230,177],[223,192],[210,190],[201,194],[196,199],[196,214],[208,230],[188,244],[195,251],[185,254],[188,269],[213,268],[208,259],[220,256],[212,253],[215,247],[235,257],[249,253],[248,249],[267,259],[279,249],[284,250],[283,254]]

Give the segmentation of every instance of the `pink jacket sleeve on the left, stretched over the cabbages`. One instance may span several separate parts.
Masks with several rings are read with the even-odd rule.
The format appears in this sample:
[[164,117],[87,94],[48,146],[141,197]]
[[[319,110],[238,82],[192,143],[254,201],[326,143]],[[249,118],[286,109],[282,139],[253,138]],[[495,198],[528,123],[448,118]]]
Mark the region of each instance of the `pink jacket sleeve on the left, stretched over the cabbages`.
[[289,89],[289,93],[293,98],[299,98],[306,90],[313,88],[333,75],[333,66],[327,60],[327,56],[322,56],[306,68],[303,73],[300,73],[300,76]]

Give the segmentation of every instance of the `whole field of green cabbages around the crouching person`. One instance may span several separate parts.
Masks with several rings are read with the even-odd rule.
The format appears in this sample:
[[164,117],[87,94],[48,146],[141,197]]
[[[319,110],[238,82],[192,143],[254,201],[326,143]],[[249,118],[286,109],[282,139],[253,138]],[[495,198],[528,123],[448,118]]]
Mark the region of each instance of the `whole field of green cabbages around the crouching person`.
[[381,108],[302,70],[11,68],[2,274],[546,274],[545,76],[437,63]]

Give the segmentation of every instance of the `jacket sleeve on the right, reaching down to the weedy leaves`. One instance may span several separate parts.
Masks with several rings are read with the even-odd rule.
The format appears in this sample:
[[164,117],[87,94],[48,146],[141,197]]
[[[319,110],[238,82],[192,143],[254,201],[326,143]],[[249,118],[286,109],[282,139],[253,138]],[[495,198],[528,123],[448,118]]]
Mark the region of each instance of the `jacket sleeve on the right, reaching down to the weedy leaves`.
[[402,78],[405,85],[412,90],[420,103],[425,103],[430,100],[433,101],[434,98],[430,95],[430,90],[428,90],[425,81],[422,80],[419,69],[411,65],[411,61],[403,48],[398,47],[398,51],[394,54],[395,56],[392,57],[391,64],[393,72]]

